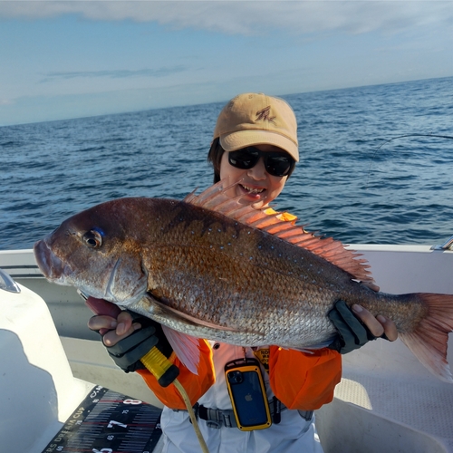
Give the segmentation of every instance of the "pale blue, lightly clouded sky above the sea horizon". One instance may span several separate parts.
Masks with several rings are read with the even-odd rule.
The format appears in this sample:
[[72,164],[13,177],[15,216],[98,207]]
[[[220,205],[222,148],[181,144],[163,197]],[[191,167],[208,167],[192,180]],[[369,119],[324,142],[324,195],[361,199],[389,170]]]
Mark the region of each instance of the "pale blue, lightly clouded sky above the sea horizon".
[[0,1],[0,126],[453,75],[453,1]]

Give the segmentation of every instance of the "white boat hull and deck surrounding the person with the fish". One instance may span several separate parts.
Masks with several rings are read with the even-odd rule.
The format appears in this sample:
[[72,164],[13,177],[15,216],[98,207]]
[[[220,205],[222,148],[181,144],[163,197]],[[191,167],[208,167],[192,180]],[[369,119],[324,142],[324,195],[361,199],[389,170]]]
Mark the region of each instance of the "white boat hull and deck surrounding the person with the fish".
[[[453,236],[442,246],[350,247],[368,260],[381,291],[453,294],[452,244]],[[32,250],[0,251],[0,269],[2,451],[69,451],[64,436],[96,425],[86,421],[94,413],[107,413],[103,425],[113,439],[105,429],[102,440],[87,431],[92,437],[85,436],[90,445],[83,451],[159,451],[159,400],[140,376],[116,368],[99,335],[87,328],[92,313],[76,290],[48,283]],[[453,364],[452,334],[448,345]],[[95,408],[101,401],[103,409]],[[132,418],[145,417],[140,410],[146,408],[149,436],[156,438],[149,449],[107,444],[125,436],[119,405]],[[344,355],[335,398],[315,413],[325,453],[453,453],[453,386],[426,370],[400,340],[369,342]],[[132,442],[133,432],[128,436]]]

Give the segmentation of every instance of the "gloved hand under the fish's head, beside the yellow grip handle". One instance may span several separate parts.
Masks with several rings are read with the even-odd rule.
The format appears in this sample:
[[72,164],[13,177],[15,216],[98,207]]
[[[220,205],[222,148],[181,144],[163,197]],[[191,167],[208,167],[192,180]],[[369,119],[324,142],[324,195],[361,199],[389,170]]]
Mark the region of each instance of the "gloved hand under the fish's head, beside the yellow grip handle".
[[91,297],[87,304],[95,313],[107,313],[93,316],[88,326],[101,334],[111,359],[123,371],[145,369],[140,359],[154,346],[166,357],[170,356],[172,349],[159,323],[138,313],[120,311],[116,305],[101,299]]

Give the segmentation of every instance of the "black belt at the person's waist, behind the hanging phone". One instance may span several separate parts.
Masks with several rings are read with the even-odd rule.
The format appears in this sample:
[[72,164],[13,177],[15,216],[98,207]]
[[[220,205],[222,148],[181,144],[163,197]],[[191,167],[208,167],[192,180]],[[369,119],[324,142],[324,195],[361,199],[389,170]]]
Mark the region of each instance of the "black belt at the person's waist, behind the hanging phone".
[[[235,412],[232,409],[209,409],[197,403],[194,406],[194,410],[198,419],[206,420],[208,428],[237,428]],[[286,407],[280,400],[274,398],[274,400],[269,401],[269,410],[273,422],[278,424],[280,423],[280,413],[286,410]],[[311,420],[313,417],[313,410],[298,410],[298,412],[306,421]]]

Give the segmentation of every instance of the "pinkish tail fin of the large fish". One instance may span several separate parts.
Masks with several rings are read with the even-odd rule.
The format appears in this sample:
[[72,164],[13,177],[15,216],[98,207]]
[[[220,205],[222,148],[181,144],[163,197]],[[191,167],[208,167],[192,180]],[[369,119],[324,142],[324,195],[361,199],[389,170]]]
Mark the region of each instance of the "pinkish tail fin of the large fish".
[[399,333],[400,340],[442,381],[453,383],[448,366],[448,333],[453,331],[453,295],[417,294],[429,308],[429,314],[415,331]]

